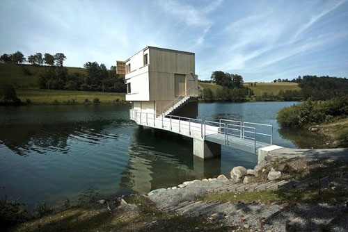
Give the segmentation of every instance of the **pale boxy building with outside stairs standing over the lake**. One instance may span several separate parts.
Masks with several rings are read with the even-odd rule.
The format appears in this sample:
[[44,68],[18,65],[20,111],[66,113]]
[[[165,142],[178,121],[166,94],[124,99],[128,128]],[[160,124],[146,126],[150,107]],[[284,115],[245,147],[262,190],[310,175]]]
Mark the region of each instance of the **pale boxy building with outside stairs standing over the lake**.
[[[126,101],[131,102],[133,110],[197,116],[198,77],[194,53],[145,47],[127,60],[117,61],[116,72],[125,74]],[[180,107],[173,108],[183,99]]]

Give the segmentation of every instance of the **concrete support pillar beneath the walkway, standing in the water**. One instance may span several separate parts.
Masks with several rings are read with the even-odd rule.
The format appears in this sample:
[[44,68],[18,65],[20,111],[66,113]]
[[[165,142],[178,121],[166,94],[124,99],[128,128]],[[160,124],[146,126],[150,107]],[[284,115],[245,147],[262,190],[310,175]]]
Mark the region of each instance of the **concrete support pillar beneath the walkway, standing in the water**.
[[203,159],[221,156],[221,144],[193,138],[193,155]]

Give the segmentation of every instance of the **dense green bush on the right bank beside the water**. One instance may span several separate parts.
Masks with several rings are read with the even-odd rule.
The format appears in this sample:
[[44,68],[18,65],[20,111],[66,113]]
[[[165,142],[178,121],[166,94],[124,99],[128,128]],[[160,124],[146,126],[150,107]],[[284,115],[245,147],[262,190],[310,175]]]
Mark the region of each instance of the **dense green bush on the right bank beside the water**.
[[278,112],[277,122],[285,127],[305,127],[310,124],[333,122],[348,116],[348,97],[329,101],[310,99],[285,107]]

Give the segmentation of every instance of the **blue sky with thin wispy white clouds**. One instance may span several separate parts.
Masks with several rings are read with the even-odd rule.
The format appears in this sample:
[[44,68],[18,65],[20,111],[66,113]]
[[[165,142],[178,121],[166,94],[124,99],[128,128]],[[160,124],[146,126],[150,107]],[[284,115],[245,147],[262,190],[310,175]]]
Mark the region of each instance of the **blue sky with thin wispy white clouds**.
[[0,1],[0,53],[62,52],[64,65],[116,65],[144,47],[196,54],[196,74],[244,81],[348,77],[348,2]]

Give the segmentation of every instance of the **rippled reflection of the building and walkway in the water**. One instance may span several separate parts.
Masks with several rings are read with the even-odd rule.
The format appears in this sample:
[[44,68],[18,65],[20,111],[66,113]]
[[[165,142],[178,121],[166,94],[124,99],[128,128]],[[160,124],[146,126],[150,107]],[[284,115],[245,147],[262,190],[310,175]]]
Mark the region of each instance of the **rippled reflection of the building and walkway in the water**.
[[220,158],[203,160],[192,152],[191,138],[146,127],[136,128],[120,186],[145,193],[221,174]]

